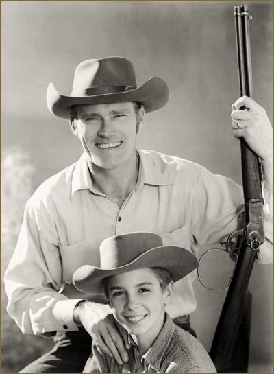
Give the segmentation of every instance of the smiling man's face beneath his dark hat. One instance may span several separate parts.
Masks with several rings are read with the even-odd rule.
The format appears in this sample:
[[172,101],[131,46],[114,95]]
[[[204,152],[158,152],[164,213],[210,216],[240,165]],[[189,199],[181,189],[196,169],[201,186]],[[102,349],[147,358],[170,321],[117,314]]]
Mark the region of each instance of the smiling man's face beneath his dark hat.
[[93,165],[114,169],[135,159],[137,116],[132,102],[77,106],[73,132]]

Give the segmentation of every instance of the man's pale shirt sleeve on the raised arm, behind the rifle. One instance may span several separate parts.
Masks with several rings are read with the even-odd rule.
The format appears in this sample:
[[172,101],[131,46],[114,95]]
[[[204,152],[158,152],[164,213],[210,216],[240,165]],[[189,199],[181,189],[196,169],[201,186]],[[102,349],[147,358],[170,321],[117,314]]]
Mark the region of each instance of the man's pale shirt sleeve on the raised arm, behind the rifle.
[[[258,262],[272,261],[272,193],[263,186],[265,242]],[[212,174],[205,167],[197,180],[192,200],[192,235],[200,245],[225,242],[229,234],[242,228],[244,198],[242,187],[233,180]]]

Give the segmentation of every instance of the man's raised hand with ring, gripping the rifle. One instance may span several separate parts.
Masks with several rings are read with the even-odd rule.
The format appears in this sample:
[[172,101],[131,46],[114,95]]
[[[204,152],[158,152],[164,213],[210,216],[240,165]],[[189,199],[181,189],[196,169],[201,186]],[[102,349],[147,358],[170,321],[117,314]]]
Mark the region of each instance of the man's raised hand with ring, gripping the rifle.
[[[242,106],[247,110],[241,110]],[[264,108],[250,97],[242,96],[232,104],[231,116],[234,137],[245,138],[262,163],[272,164],[272,126]]]

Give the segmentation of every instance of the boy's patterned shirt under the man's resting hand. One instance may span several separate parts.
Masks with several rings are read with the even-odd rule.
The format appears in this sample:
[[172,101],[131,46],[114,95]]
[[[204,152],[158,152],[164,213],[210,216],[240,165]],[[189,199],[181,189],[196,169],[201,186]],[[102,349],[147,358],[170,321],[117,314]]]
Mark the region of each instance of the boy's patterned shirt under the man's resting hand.
[[137,359],[137,346],[129,336],[129,361],[123,365],[99,353],[92,344],[92,353],[83,373],[216,373],[210,356],[202,344],[180,329],[166,314],[164,326],[151,348]]

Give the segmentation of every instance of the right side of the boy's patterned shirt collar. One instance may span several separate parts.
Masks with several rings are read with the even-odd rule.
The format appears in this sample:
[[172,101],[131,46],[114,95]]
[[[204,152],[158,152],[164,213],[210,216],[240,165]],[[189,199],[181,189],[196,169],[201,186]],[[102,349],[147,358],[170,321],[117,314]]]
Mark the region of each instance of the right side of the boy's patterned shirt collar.
[[[157,338],[154,340],[149,351],[142,356],[142,360],[145,360],[153,370],[159,372],[162,364],[166,349],[169,347],[171,338],[175,331],[175,324],[171,320],[169,314],[165,314],[165,321]],[[165,347],[165,349],[160,349]]]

